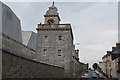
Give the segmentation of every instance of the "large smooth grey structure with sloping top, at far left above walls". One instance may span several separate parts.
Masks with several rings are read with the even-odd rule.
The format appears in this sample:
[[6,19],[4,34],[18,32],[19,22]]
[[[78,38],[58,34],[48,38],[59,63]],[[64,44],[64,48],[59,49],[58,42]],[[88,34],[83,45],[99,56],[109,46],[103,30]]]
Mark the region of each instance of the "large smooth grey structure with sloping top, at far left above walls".
[[[21,23],[15,13],[5,4],[2,4],[2,31],[1,33],[22,43]],[[0,12],[1,12],[0,11]]]

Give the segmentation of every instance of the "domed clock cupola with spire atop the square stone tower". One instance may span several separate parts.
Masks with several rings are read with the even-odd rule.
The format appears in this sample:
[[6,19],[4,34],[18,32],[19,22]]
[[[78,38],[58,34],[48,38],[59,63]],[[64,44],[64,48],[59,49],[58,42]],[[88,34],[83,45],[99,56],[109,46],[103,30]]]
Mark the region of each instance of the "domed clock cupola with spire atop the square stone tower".
[[49,7],[49,10],[47,10],[45,17],[45,24],[59,24],[60,17],[59,13],[57,12],[57,7],[54,6],[54,2],[51,7]]

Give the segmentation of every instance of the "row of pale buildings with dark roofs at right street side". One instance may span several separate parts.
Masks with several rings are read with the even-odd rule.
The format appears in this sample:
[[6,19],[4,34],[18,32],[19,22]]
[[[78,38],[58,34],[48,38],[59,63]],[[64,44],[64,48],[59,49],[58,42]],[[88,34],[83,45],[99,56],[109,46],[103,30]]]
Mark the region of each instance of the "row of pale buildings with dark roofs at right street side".
[[104,55],[102,58],[102,63],[100,67],[108,77],[119,77],[119,47],[120,43],[117,43],[116,47],[112,47],[112,51],[107,51],[107,54]]

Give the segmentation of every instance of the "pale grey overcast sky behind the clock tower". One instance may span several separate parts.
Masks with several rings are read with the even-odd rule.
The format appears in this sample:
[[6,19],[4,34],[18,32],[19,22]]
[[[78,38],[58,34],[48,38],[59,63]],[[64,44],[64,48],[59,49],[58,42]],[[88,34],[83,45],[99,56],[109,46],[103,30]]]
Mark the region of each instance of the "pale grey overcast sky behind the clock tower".
[[[21,20],[24,31],[36,32],[52,2],[4,2]],[[102,60],[118,42],[117,2],[55,2],[61,24],[70,23],[80,61],[90,66]],[[79,44],[78,44],[79,43]]]

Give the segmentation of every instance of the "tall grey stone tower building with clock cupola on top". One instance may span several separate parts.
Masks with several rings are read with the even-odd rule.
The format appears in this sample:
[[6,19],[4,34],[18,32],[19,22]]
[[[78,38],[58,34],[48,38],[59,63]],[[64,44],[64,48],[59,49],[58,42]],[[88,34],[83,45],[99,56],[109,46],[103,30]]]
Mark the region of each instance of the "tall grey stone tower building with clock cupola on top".
[[38,24],[37,61],[64,68],[64,76],[72,77],[79,72],[79,50],[75,50],[71,24],[60,24],[54,2],[44,15],[44,24]]

